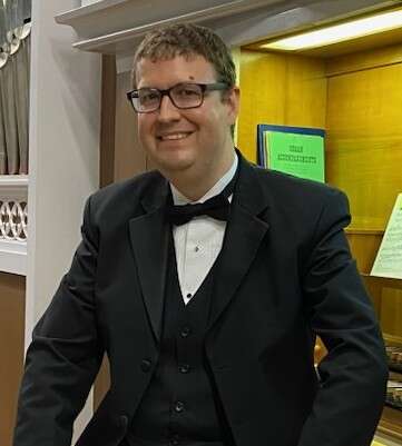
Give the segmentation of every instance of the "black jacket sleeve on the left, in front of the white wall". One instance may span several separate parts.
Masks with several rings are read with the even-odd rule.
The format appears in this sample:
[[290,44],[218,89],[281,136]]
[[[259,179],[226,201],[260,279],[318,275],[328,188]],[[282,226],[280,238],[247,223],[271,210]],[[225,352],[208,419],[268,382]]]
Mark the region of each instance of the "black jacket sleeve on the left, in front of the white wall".
[[98,236],[90,220],[88,199],[70,270],[33,329],[13,446],[70,446],[73,420],[100,367],[94,299]]

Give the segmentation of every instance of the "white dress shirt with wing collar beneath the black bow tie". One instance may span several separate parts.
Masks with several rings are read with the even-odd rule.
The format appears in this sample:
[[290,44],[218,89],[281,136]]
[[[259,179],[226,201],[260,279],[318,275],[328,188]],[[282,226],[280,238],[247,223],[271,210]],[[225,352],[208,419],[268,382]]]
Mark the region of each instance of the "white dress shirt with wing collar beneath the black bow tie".
[[[197,201],[189,200],[170,184],[174,204],[204,202],[220,194],[236,174],[237,163],[237,155],[234,152],[231,169]],[[228,197],[229,201],[232,197]],[[197,293],[218,257],[225,229],[226,221],[209,216],[194,217],[185,225],[173,226],[178,281],[185,305]]]

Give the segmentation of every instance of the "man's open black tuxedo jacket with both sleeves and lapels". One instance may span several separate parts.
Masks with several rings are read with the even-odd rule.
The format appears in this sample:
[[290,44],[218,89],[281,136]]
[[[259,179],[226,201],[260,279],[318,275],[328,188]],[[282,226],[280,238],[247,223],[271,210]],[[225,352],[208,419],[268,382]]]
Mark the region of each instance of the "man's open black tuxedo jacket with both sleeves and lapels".
[[[388,367],[343,228],[345,196],[239,159],[205,353],[236,446],[365,446]],[[111,386],[78,440],[117,446],[158,360],[169,227],[157,171],[99,190],[33,331],[14,446],[68,446],[104,351]],[[329,355],[313,364],[315,335]]]

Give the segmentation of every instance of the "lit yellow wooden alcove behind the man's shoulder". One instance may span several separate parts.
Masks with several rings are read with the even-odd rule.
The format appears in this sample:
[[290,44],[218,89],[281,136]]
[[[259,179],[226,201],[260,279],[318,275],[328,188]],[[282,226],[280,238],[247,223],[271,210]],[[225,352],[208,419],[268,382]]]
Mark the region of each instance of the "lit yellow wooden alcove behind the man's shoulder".
[[[392,44],[390,44],[392,42]],[[384,339],[402,351],[402,280],[370,276],[395,198],[402,191],[402,33],[290,54],[243,47],[238,147],[255,161],[256,126],[326,130],[326,182],[344,190],[351,250]],[[317,346],[317,356],[325,354]],[[402,358],[401,358],[402,360]],[[393,367],[392,378],[402,381]],[[379,432],[402,440],[402,409],[386,406]]]

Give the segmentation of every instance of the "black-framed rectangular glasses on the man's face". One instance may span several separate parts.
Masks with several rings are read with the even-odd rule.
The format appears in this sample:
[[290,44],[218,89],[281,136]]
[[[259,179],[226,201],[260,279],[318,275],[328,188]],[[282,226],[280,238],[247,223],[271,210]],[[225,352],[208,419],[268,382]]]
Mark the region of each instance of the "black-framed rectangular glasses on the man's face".
[[161,98],[168,96],[179,109],[197,108],[204,102],[206,91],[227,90],[225,82],[215,83],[177,83],[166,90],[158,88],[139,88],[127,92],[127,99],[138,113],[150,113],[160,107]]

